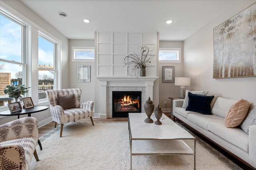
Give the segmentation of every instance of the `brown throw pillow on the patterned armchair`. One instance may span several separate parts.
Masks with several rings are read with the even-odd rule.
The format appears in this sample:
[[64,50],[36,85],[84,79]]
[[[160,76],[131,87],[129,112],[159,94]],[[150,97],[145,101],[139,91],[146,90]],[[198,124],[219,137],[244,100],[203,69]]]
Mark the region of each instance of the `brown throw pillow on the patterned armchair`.
[[75,108],[75,102],[74,102],[75,95],[74,94],[58,95],[57,97],[58,97],[59,105],[64,110]]

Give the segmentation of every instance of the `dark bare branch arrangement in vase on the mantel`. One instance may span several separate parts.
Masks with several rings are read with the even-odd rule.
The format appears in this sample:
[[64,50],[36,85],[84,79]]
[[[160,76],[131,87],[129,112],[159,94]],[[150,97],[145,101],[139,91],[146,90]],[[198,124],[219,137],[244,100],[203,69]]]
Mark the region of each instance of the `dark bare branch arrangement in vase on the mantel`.
[[[146,68],[151,63],[150,60],[155,56],[150,53],[154,49],[149,50],[147,46],[140,46],[138,48],[140,48],[141,55],[137,55],[134,52],[134,54],[129,54],[123,59],[124,66],[128,66],[127,71],[130,76],[136,76],[137,69]],[[131,73],[129,72],[129,66],[133,67]]]

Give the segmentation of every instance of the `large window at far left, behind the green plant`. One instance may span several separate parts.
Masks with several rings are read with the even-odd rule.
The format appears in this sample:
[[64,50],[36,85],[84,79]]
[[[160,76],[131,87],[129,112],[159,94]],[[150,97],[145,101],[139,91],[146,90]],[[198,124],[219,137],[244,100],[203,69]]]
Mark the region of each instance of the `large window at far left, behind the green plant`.
[[[27,84],[27,26],[24,21],[0,8],[0,98],[8,98],[2,90],[6,85],[14,82]],[[2,101],[1,105],[6,106],[7,102]]]

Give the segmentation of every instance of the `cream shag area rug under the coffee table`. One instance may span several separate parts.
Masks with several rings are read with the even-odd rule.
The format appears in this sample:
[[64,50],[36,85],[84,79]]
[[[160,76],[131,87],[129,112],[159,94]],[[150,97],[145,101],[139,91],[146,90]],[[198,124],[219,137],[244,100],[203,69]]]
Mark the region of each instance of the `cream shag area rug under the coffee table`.
[[[43,150],[36,147],[40,161],[32,158],[30,170],[129,170],[130,142],[128,123],[82,123],[60,126],[40,138]],[[139,129],[138,129],[139,130]],[[212,151],[196,144],[197,170],[240,169],[227,158],[224,162]],[[190,140],[188,145],[193,146]],[[212,150],[212,149],[210,149]],[[226,163],[225,163],[226,162]],[[230,164],[231,163],[231,164]],[[230,168],[228,167],[230,166]],[[192,170],[194,156],[132,156],[133,170]]]

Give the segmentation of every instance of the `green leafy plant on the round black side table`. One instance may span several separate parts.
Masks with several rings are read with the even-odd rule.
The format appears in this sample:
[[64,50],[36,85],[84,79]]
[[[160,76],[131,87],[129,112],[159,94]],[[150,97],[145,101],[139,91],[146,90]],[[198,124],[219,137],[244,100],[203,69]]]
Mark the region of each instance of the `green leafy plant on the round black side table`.
[[9,94],[10,98],[15,98],[15,101],[18,102],[21,95],[25,95],[28,92],[28,88],[25,85],[7,85],[4,88],[4,94]]

